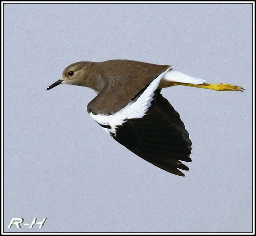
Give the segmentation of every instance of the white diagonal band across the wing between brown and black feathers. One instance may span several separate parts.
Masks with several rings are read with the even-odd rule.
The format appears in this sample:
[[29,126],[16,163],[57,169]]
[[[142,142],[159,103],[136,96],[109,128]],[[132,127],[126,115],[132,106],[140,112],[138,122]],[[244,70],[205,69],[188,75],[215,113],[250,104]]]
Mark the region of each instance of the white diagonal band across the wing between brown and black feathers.
[[168,68],[165,72],[156,77],[145,91],[134,101],[130,101],[124,108],[112,115],[102,115],[102,114],[92,114],[89,115],[96,120],[97,123],[108,126],[111,128],[102,127],[108,134],[116,135],[116,127],[122,125],[126,119],[142,118],[145,112],[151,106],[151,101],[153,100],[154,91],[158,88],[160,80],[168,72]]

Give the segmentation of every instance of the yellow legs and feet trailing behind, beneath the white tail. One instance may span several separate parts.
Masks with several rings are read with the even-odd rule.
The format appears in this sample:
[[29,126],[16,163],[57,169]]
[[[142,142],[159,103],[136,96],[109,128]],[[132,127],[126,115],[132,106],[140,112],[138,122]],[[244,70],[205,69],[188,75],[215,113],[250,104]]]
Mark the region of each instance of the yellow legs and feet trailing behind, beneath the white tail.
[[180,82],[173,82],[170,83],[169,86],[175,86],[175,85],[184,85],[184,86],[190,86],[190,87],[196,87],[196,88],[202,88],[202,89],[213,89],[217,91],[243,91],[244,88],[233,85],[233,84],[187,84],[187,83],[180,83]]

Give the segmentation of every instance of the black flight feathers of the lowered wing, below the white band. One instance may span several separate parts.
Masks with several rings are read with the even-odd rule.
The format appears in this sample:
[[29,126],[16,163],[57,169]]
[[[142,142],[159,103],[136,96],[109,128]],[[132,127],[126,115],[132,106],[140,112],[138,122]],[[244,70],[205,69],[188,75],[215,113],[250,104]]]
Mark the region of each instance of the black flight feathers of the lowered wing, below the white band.
[[[191,141],[179,114],[156,91],[142,118],[127,119],[116,127],[114,139],[146,161],[172,174],[189,170],[180,161],[191,162]],[[180,160],[180,161],[179,161]]]

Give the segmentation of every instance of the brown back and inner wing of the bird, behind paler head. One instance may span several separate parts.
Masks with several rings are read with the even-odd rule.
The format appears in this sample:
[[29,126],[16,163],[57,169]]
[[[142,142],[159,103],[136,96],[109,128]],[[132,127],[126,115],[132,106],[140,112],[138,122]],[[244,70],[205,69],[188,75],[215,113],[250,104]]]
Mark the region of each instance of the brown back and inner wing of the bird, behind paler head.
[[98,62],[94,66],[100,71],[105,84],[87,106],[88,112],[96,114],[119,111],[158,75],[171,67],[130,60],[110,60]]

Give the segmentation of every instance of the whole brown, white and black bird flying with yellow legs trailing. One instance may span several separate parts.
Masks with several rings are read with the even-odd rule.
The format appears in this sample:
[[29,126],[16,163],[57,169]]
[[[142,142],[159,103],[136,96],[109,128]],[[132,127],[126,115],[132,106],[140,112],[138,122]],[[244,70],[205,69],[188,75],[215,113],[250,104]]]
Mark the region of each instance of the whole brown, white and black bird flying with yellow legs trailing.
[[172,174],[185,176],[182,163],[191,162],[192,142],[180,115],[161,95],[175,85],[243,91],[232,84],[205,80],[174,71],[170,65],[130,60],[76,62],[66,67],[59,84],[89,87],[97,96],[87,105],[89,115],[117,142],[144,160]]

